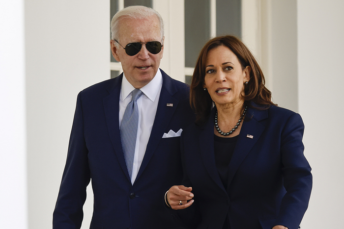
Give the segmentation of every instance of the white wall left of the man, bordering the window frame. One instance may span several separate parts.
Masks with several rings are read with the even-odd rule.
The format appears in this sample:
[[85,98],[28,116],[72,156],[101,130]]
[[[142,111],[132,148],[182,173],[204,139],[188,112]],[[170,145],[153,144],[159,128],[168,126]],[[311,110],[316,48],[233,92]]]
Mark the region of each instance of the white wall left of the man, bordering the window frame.
[[77,94],[110,78],[109,7],[109,0],[25,0],[29,229],[52,227]]

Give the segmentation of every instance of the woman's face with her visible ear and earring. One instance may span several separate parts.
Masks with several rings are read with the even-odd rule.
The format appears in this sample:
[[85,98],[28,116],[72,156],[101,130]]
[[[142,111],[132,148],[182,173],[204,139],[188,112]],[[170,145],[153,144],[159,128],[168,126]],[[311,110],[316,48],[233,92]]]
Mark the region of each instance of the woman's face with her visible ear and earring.
[[208,52],[204,87],[216,106],[233,106],[244,101],[244,83],[250,79],[250,67],[242,70],[236,55],[226,46]]

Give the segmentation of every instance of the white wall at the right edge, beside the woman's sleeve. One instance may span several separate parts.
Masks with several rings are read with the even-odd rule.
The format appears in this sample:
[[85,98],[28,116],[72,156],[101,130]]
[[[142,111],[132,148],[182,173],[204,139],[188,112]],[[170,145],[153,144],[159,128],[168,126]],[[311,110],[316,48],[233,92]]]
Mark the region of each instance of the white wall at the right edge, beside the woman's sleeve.
[[304,229],[344,225],[344,1],[298,0],[299,112],[313,191]]

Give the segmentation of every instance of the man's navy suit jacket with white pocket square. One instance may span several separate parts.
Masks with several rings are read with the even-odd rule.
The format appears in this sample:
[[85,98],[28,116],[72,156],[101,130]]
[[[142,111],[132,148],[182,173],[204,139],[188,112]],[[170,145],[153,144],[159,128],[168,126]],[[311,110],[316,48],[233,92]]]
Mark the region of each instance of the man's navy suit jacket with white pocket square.
[[[158,108],[138,176],[131,184],[122,152],[118,104],[123,75],[79,93],[53,217],[54,229],[79,229],[86,186],[91,180],[94,205],[90,229],[178,228],[164,193],[182,181],[180,137],[164,133],[194,121],[189,87],[162,72]],[[173,106],[167,106],[172,103]]]

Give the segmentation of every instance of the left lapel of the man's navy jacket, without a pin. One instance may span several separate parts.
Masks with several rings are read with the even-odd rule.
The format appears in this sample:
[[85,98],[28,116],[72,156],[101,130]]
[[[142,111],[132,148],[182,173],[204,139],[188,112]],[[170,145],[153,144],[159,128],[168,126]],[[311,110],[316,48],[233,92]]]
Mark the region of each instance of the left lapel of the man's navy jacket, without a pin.
[[127,176],[128,180],[130,181],[129,173],[127,166],[125,164],[124,154],[122,150],[122,144],[120,141],[120,134],[119,134],[119,93],[121,88],[123,74],[115,78],[115,85],[108,88],[109,95],[104,97],[103,105],[104,105],[104,112],[106,123],[108,125],[109,136],[111,139],[111,143],[114,147],[115,154],[117,156],[118,162],[123,170],[123,173]]

